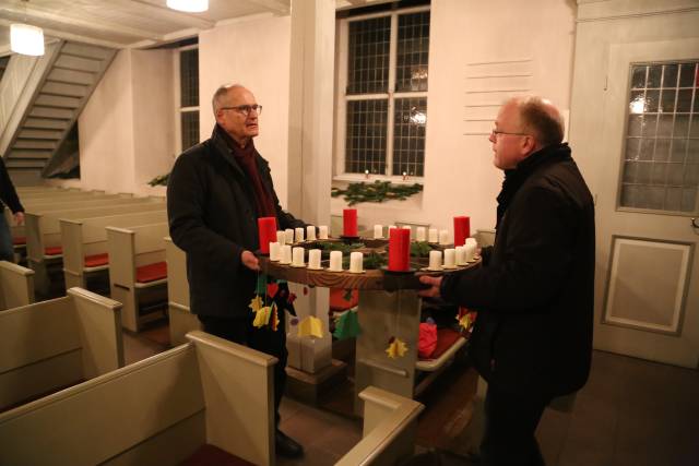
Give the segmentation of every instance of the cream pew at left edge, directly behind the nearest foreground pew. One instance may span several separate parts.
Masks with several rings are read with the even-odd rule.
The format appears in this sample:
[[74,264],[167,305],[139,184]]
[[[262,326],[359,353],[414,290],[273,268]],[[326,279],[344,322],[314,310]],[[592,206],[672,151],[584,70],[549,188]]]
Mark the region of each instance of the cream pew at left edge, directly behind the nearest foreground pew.
[[0,312],[0,409],[122,367],[120,309],[71,288],[63,298]]

